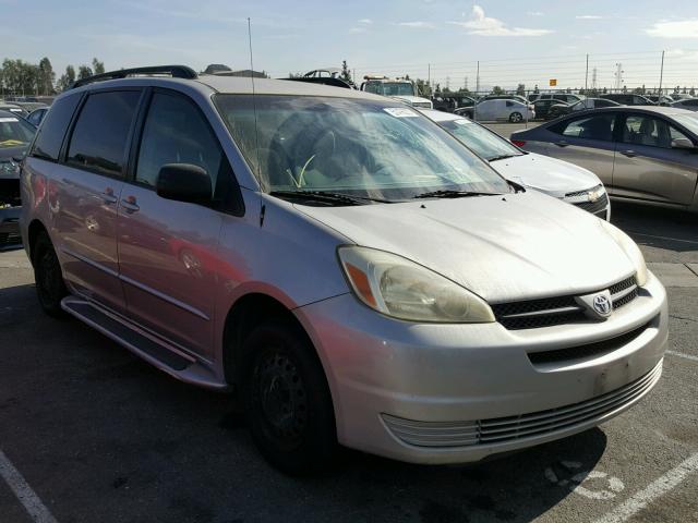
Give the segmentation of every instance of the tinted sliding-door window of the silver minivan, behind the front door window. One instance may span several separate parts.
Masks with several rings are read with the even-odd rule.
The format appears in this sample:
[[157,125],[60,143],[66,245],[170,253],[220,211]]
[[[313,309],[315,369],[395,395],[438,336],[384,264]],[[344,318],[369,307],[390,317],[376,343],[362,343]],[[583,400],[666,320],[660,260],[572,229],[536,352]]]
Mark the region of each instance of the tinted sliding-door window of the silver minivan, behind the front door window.
[[140,97],[136,90],[89,95],[73,129],[68,163],[98,174],[120,177]]

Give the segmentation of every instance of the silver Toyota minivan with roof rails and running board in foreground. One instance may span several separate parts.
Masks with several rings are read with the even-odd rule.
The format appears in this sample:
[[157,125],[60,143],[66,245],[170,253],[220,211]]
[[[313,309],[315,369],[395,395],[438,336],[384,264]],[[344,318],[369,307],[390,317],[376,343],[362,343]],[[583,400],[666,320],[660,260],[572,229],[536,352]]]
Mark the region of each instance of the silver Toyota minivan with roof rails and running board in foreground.
[[605,422],[661,375],[666,297],[637,245],[389,98],[106,73],[56,99],[21,182],[46,313],[236,391],[289,473],[339,445],[481,460]]

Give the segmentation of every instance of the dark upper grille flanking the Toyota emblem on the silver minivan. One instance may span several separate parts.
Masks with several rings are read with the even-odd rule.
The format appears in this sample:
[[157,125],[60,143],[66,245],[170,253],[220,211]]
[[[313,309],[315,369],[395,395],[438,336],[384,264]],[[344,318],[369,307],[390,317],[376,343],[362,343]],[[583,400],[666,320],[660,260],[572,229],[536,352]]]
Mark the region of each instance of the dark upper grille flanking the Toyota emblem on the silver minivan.
[[[627,305],[638,296],[635,275],[609,288],[613,309]],[[492,305],[497,321],[509,330],[535,329],[554,325],[591,321],[575,296],[555,296],[541,300],[497,303]]]

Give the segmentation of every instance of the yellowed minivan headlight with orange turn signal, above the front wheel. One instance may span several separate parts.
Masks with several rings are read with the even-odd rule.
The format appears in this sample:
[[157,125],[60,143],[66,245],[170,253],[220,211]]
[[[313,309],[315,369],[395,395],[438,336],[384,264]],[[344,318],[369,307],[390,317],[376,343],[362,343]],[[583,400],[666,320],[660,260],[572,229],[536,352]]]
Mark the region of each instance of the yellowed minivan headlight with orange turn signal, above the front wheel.
[[357,297],[380,313],[410,321],[494,321],[480,296],[409,259],[368,247],[340,247],[338,253]]

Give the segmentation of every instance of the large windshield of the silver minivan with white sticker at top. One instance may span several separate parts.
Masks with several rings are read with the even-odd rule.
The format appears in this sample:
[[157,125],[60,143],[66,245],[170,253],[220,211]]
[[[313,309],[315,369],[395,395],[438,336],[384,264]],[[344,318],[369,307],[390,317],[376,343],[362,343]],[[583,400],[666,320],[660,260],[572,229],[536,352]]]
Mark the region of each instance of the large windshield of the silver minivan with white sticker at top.
[[216,95],[263,186],[397,200],[428,191],[508,193],[506,181],[429,119],[389,100]]

